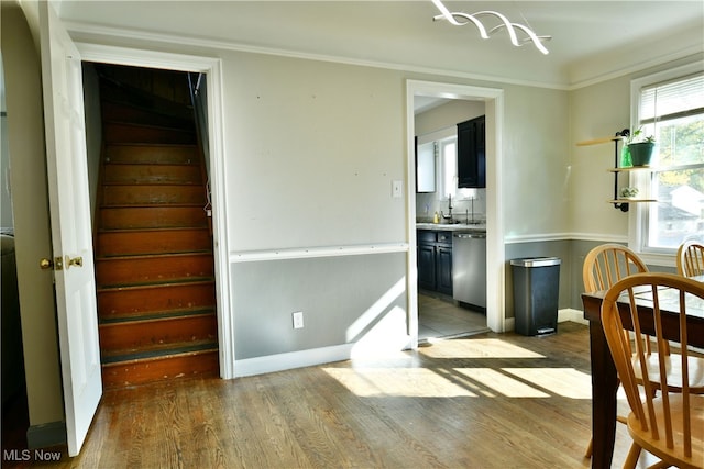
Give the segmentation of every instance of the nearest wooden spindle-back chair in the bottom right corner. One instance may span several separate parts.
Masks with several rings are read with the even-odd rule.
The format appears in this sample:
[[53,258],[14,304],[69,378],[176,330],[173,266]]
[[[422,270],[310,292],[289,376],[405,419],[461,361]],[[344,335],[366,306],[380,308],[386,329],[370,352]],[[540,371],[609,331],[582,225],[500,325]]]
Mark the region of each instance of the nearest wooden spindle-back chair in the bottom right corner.
[[[640,294],[650,295],[652,301],[638,299]],[[647,317],[645,309],[637,310],[642,301],[651,305]],[[694,302],[704,304],[704,283],[672,273],[626,277],[604,297],[602,325],[631,411],[627,425],[634,443],[624,468],[635,468],[642,449],[663,461],[659,467],[701,469],[704,465],[704,395],[694,392],[701,370],[692,368],[695,357],[691,356],[686,333],[686,312]],[[666,303],[669,311],[679,312],[671,323],[676,333],[667,338],[660,308]],[[632,324],[635,339],[625,334],[624,324]],[[681,351],[656,354],[653,364],[644,345],[647,336],[654,336],[659,344],[679,337]],[[680,368],[680,382],[671,381],[667,370],[672,367]],[[660,391],[641,392],[639,384],[644,381],[659,382]]]

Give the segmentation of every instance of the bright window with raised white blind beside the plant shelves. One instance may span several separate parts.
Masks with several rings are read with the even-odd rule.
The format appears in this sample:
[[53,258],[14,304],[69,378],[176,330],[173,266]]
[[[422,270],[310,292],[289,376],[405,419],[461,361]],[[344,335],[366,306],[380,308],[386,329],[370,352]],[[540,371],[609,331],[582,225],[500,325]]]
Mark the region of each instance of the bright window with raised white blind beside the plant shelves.
[[635,80],[631,93],[634,127],[657,142],[653,169],[632,178],[658,200],[637,205],[631,241],[641,253],[674,254],[686,238],[704,241],[702,64]]

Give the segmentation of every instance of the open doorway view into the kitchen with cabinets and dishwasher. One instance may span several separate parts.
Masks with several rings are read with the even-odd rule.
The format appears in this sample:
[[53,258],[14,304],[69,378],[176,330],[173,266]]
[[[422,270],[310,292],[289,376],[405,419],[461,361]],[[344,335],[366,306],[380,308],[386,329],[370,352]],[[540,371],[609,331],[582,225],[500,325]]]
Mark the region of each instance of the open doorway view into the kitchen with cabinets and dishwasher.
[[476,123],[484,115],[481,100],[414,99],[420,342],[488,331],[484,314],[486,189],[477,172],[484,167],[483,157],[475,165],[474,187],[466,188],[464,180],[470,176],[465,164],[470,146],[473,155],[483,153],[484,125]]

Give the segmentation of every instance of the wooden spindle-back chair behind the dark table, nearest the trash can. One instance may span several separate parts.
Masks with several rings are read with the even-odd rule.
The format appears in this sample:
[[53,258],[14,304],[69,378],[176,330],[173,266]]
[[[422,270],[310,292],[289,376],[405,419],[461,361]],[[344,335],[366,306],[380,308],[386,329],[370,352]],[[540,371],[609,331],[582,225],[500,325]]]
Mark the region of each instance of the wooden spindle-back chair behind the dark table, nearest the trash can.
[[[582,266],[584,291],[594,293],[608,290],[625,277],[647,271],[646,263],[628,247],[615,243],[603,244],[590,250],[584,258]],[[618,415],[616,420],[623,424],[626,423],[625,416]],[[584,457],[592,457],[593,443],[593,439],[590,439]]]

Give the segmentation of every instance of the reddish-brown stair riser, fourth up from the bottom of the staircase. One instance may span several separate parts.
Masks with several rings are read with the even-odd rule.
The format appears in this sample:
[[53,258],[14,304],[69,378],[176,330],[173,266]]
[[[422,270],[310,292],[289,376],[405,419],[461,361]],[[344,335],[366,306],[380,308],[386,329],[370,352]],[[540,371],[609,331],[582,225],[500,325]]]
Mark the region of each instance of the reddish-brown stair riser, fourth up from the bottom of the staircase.
[[168,281],[186,277],[212,277],[212,254],[160,258],[97,258],[100,286]]

